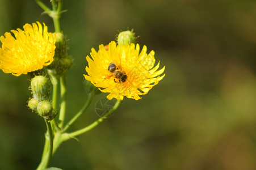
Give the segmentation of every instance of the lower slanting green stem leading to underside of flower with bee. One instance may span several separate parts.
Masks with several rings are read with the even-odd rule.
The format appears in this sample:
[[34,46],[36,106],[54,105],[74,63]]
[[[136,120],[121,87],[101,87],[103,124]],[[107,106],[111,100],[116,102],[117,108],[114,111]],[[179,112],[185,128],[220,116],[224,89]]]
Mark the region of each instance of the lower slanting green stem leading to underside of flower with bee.
[[110,111],[108,111],[107,113],[105,113],[102,117],[100,117],[98,120],[96,120],[95,122],[93,122],[93,124],[86,126],[85,128],[81,129],[81,130],[77,130],[74,131],[73,133],[69,133],[68,135],[65,135],[64,137],[62,137],[63,141],[66,141],[70,138],[74,138],[77,135],[81,135],[83,133],[85,133],[86,131],[89,131],[91,129],[93,129],[95,126],[99,125],[100,122],[102,122],[103,120],[105,120],[108,116],[110,116],[122,103],[122,100],[117,100],[114,107],[110,109]]

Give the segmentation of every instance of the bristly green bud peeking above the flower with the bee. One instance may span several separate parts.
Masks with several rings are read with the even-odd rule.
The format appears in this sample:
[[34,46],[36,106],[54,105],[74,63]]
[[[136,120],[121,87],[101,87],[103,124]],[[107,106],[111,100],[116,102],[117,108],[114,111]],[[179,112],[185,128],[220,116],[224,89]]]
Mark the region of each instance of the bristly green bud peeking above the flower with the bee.
[[[132,30],[133,31],[133,30]],[[119,35],[117,36],[117,43],[118,45],[125,45],[125,44],[135,44],[137,37],[135,37],[135,33],[132,31],[123,31],[120,32]]]

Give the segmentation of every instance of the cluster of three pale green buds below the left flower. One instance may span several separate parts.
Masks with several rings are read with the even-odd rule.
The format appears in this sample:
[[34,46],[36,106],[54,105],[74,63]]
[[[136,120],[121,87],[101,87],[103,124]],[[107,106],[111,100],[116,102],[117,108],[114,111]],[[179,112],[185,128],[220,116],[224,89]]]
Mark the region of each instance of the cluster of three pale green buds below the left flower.
[[28,101],[28,107],[45,119],[52,118],[52,114],[56,114],[50,100],[50,88],[48,78],[43,75],[31,79],[33,97]]

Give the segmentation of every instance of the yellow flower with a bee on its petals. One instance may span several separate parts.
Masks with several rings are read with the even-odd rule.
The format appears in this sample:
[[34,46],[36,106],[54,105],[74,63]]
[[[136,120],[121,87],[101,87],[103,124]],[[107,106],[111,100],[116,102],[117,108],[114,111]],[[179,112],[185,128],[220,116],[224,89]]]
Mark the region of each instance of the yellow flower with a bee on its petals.
[[108,50],[100,45],[99,52],[92,48],[90,54],[92,59],[86,57],[89,67],[86,66],[88,75],[84,75],[85,79],[100,91],[110,93],[109,100],[123,100],[124,96],[139,100],[139,95],[147,94],[165,76],[160,76],[165,67],[157,71],[160,62],[154,67],[154,51],[146,54],[146,46],[140,52],[139,44],[136,48],[135,44],[116,46],[112,41]]

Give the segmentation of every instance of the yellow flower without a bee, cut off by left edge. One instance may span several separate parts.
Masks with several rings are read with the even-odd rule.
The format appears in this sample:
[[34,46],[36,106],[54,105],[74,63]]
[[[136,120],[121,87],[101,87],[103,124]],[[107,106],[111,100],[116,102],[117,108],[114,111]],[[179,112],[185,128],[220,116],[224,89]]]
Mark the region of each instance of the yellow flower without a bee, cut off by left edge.
[[19,76],[52,63],[56,48],[54,36],[44,23],[44,28],[36,23],[25,24],[24,31],[19,28],[11,30],[15,37],[10,32],[0,37],[0,69],[4,73]]

